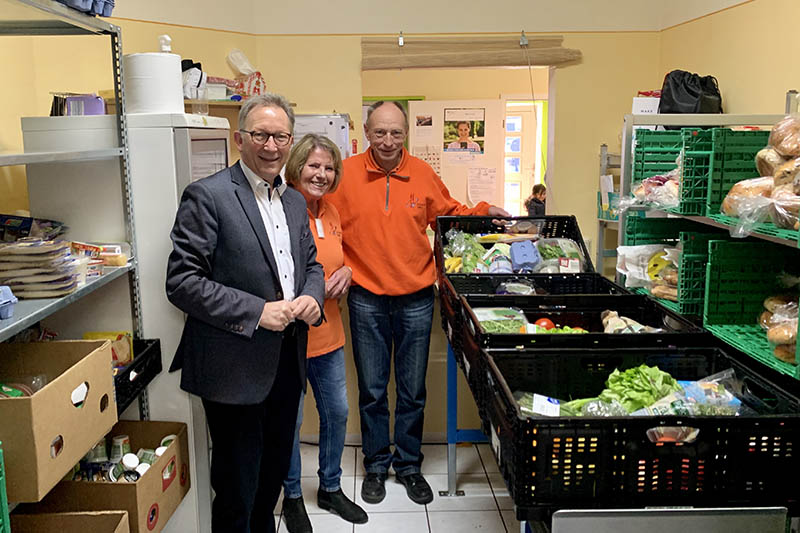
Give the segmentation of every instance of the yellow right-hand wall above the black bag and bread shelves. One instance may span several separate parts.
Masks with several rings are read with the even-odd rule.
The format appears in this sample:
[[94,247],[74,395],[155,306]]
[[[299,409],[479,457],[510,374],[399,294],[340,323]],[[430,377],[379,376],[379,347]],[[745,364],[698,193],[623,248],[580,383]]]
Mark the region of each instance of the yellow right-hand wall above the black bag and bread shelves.
[[726,113],[782,113],[800,89],[797,0],[755,0],[665,30],[661,72],[713,74]]

